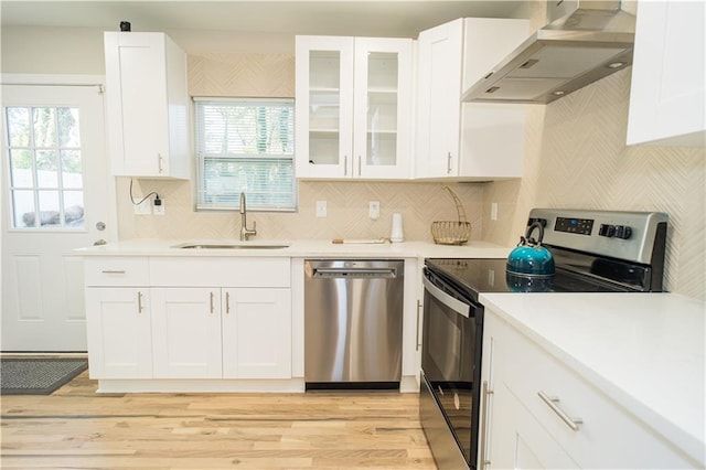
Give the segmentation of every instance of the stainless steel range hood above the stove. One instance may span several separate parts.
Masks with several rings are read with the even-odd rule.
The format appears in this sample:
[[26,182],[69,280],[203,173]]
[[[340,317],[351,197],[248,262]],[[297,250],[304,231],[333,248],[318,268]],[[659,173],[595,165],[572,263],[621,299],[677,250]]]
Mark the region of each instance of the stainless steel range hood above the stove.
[[621,1],[550,0],[549,24],[461,99],[547,104],[631,65],[635,17],[623,7]]

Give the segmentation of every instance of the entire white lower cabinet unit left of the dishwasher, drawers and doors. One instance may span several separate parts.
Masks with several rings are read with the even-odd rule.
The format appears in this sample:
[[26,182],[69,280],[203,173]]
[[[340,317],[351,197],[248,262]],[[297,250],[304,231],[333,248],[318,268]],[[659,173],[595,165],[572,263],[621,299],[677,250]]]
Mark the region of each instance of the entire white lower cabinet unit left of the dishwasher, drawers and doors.
[[[92,378],[292,378],[289,258],[105,258],[84,268]],[[218,279],[238,287],[206,284]]]

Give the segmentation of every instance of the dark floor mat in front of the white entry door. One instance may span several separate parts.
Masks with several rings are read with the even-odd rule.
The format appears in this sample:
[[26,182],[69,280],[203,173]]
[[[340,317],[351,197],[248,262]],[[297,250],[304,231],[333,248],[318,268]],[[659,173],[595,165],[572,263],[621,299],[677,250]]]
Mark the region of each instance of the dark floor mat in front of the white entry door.
[[87,367],[85,359],[0,359],[0,394],[50,395]]

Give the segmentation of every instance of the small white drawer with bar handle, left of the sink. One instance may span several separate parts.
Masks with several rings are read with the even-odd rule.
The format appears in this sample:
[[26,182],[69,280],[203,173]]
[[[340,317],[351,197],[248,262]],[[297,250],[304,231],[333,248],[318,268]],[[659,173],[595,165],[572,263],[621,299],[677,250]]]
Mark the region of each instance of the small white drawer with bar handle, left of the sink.
[[147,258],[87,258],[84,261],[86,286],[149,286]]

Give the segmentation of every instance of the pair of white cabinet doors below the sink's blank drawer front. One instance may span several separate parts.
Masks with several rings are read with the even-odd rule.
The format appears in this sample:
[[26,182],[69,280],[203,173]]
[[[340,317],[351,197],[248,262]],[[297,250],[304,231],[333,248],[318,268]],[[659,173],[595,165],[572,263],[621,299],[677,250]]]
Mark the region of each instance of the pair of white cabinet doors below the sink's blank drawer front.
[[289,378],[289,289],[153,288],[156,378]]

